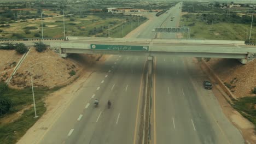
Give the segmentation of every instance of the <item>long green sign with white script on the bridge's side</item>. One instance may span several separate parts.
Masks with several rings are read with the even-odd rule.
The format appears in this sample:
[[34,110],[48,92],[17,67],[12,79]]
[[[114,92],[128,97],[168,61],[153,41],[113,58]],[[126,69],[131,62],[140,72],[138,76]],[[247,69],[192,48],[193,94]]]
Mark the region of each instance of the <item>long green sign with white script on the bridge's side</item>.
[[135,45],[98,45],[98,44],[91,44],[90,48],[94,49],[94,50],[148,51],[148,46],[135,46]]

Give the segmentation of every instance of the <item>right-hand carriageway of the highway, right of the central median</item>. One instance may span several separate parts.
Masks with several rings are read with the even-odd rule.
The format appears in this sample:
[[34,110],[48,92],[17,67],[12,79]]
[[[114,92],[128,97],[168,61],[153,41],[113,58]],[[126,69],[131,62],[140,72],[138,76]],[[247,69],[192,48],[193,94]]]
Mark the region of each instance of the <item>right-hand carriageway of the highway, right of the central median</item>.
[[[169,13],[176,25],[179,5]],[[159,34],[158,38],[175,38]],[[240,132],[222,113],[211,91],[202,87],[207,79],[192,58],[155,57],[153,75],[152,143],[244,143]]]

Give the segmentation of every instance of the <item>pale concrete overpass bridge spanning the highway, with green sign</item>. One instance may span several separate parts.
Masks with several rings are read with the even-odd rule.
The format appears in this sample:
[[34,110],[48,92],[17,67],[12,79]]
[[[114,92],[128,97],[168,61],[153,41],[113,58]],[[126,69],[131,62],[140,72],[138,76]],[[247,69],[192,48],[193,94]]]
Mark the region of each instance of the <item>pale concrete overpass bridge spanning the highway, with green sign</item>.
[[256,46],[236,40],[194,39],[127,39],[67,37],[66,41],[50,42],[51,49],[67,53],[100,53],[133,56],[181,56],[235,58],[246,64],[256,57]]

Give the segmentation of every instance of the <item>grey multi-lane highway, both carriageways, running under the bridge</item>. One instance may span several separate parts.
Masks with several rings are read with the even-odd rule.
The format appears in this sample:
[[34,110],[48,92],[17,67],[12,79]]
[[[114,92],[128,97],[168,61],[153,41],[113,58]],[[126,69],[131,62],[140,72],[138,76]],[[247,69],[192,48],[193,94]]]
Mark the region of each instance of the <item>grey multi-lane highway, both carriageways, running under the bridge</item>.
[[[134,38],[175,38],[152,29],[176,26],[179,4],[154,17]],[[174,15],[173,21],[169,17]],[[167,20],[166,20],[167,19]],[[165,23],[162,23],[162,21]],[[239,131],[222,113],[211,91],[202,89],[202,72],[191,58],[154,57],[152,143],[242,143]],[[127,143],[141,142],[143,72],[147,57],[110,56],[97,65],[60,118],[32,143]],[[206,78],[203,77],[203,78]],[[201,79],[200,79],[201,80]],[[94,107],[94,100],[100,104]],[[112,107],[107,109],[107,101]]]

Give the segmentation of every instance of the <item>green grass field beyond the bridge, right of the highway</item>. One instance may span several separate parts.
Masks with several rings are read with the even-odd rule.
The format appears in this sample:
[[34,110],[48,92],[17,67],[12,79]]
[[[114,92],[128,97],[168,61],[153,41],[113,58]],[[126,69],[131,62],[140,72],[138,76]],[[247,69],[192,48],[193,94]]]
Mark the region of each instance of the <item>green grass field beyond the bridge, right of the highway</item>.
[[[196,14],[189,14],[188,19],[184,19],[185,27],[190,28],[191,39],[217,39],[217,40],[247,40],[251,25],[240,23],[213,23],[207,25],[201,22]],[[194,23],[194,24],[193,24]],[[183,34],[187,38],[187,34]],[[251,34],[251,42],[256,43],[256,27],[253,28]]]

